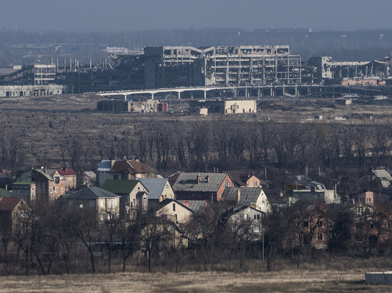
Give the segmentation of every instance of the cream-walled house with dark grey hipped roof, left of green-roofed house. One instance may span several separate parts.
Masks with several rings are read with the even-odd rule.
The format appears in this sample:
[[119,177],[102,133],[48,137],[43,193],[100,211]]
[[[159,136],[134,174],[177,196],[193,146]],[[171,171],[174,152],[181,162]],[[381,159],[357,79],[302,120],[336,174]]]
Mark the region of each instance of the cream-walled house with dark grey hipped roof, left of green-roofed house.
[[63,198],[69,207],[90,209],[100,221],[119,216],[120,196],[103,188],[87,187]]

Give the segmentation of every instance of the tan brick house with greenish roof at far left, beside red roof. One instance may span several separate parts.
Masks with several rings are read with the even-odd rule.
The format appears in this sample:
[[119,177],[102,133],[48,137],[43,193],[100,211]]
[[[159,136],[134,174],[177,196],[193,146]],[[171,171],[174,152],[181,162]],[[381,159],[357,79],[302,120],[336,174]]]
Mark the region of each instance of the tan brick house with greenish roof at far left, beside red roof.
[[65,179],[56,169],[31,169],[22,173],[16,182],[35,183],[36,201],[55,201],[66,193]]

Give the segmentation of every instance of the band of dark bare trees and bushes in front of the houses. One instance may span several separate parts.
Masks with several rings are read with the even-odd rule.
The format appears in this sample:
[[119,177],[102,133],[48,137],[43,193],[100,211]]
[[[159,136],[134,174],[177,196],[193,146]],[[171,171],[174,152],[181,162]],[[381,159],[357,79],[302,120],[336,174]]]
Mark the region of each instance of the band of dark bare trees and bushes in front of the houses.
[[[12,227],[0,225],[0,272],[247,272],[320,263],[354,268],[381,255],[379,265],[392,261],[389,204],[359,209],[298,201],[259,223],[243,217],[228,221],[225,213],[232,207],[227,201],[215,202],[175,225],[153,209],[134,219],[98,220],[89,208],[69,208],[61,198],[22,205]],[[344,262],[338,264],[339,258]]]

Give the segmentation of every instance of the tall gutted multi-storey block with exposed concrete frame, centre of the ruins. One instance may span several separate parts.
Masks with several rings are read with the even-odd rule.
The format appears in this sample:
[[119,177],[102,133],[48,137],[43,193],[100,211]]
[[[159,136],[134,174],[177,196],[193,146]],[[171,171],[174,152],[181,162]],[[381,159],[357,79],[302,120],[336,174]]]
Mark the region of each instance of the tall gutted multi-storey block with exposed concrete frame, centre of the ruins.
[[301,83],[289,46],[145,47],[144,58],[147,88]]

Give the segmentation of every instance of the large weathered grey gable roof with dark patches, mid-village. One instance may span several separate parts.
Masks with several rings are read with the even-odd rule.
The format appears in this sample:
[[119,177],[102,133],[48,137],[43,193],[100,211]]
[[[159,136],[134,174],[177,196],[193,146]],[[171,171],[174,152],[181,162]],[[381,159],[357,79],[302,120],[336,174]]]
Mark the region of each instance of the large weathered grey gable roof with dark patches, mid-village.
[[[200,176],[200,183],[197,183]],[[207,182],[207,176],[209,180]],[[176,191],[217,192],[222,185],[226,173],[180,173],[172,188]]]

